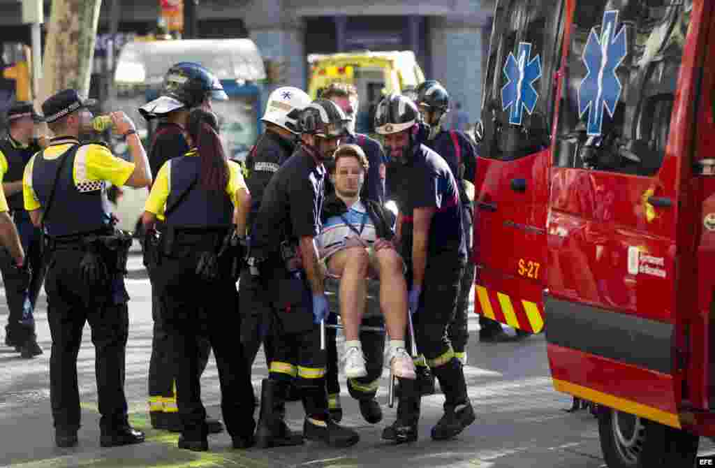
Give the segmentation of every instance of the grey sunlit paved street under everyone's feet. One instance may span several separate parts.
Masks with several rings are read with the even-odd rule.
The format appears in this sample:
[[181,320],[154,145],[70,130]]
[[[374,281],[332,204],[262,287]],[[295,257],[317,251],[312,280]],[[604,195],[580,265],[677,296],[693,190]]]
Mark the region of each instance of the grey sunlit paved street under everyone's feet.
[[[465,369],[470,397],[478,419],[449,442],[430,440],[430,428],[441,415],[443,396],[423,398],[420,439],[415,444],[393,446],[380,439],[395,409],[386,404],[385,419],[372,426],[360,416],[342,379],[343,423],[358,428],[360,442],[349,449],[330,449],[307,443],[302,447],[237,451],[230,437],[209,438],[210,452],[197,454],[177,449],[177,434],[158,432],[147,421],[147,371],[151,352],[152,316],[149,282],[141,271],[140,258],[129,260],[127,280],[132,301],[127,347],[127,398],[132,424],[147,432],[147,442],[131,447],[99,447],[97,389],[94,381],[94,351],[85,329],[79,354],[79,386],[82,421],[79,447],[54,447],[49,404],[50,336],[46,302],[36,314],[38,336],[45,354],[33,360],[20,359],[10,348],[0,346],[0,467],[479,467],[479,468],[598,468],[604,467],[598,444],[596,420],[587,411],[568,414],[571,400],[553,391],[548,376],[546,343],[533,336],[520,343],[486,344],[476,337],[476,316],[470,321],[472,338],[469,366]],[[216,304],[220,307],[220,304]],[[7,308],[0,298],[0,323],[6,323]],[[260,353],[262,359],[262,352]],[[265,362],[255,367],[256,389],[267,375]],[[387,401],[387,373],[378,399]],[[204,404],[220,416],[218,377],[213,359],[202,379]],[[300,405],[289,404],[287,419],[302,428]],[[256,415],[257,416],[257,415]],[[714,452],[710,442],[701,442],[704,452]]]

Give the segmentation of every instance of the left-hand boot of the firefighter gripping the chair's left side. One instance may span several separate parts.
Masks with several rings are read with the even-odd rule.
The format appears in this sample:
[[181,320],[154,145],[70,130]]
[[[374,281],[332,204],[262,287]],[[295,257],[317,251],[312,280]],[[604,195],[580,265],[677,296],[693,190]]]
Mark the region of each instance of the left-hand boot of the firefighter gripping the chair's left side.
[[285,424],[285,382],[272,379],[261,381],[261,412],[256,429],[257,447],[285,447],[303,443],[300,434],[293,434]]

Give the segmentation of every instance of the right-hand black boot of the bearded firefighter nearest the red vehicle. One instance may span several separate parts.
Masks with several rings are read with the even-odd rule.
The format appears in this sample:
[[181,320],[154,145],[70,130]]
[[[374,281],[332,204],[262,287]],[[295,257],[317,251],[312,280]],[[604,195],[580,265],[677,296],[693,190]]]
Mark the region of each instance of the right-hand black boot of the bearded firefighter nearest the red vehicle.
[[476,416],[467,396],[467,384],[459,360],[453,357],[447,364],[435,367],[433,371],[445,394],[445,414],[432,428],[432,438],[450,439],[472,424]]

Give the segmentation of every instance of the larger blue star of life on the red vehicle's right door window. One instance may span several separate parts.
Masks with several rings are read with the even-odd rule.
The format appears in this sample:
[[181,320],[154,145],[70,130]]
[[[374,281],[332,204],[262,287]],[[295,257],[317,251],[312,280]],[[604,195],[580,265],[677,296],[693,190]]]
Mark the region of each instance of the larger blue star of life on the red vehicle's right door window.
[[583,77],[578,87],[578,116],[588,111],[588,135],[601,135],[603,127],[603,109],[613,118],[621,98],[623,86],[616,76],[616,69],[628,54],[626,29],[616,34],[618,29],[618,10],[603,12],[601,37],[596,34],[596,28],[588,34],[586,47],[583,49],[583,63],[586,64],[586,77]]

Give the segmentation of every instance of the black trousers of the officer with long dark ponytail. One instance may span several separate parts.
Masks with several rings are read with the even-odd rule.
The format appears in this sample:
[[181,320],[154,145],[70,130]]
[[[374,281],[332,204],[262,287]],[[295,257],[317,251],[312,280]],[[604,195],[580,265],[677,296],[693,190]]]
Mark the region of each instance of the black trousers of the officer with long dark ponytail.
[[[243,346],[235,334],[240,326],[236,312],[236,285],[230,275],[218,281],[204,281],[196,268],[202,245],[184,243],[177,235],[171,255],[162,255],[154,268],[154,288],[161,303],[162,326],[169,348],[168,360],[176,378],[177,406],[182,434],[189,440],[206,436],[206,410],[201,401],[199,352],[201,338],[214,350],[221,387],[221,411],[232,437],[253,434],[253,387],[245,371]],[[218,306],[217,306],[218,305]]]

